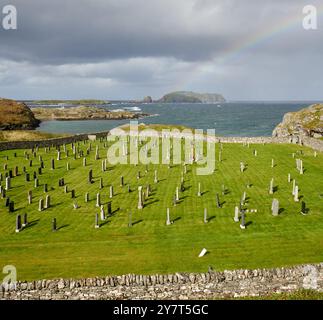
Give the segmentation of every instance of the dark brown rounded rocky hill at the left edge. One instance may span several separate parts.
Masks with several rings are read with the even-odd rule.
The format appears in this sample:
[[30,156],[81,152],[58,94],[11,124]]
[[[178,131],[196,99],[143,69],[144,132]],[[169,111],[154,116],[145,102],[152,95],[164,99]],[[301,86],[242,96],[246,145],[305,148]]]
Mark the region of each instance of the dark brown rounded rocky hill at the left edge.
[[39,123],[26,104],[0,98],[0,130],[31,130]]

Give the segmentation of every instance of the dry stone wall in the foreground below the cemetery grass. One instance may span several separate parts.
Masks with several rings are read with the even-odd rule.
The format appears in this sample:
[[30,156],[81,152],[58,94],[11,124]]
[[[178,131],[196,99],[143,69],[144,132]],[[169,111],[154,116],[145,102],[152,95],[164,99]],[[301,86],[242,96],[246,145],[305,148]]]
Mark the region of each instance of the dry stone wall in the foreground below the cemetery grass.
[[323,291],[323,263],[290,268],[18,282],[0,299],[211,299]]

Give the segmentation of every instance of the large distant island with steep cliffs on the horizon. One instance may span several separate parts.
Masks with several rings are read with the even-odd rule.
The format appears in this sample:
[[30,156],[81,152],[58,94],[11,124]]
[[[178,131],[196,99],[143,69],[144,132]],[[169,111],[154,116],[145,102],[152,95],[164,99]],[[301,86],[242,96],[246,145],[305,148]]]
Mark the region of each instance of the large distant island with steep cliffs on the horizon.
[[222,95],[217,93],[196,93],[191,91],[176,91],[163,96],[158,102],[162,103],[219,103],[225,102]]

